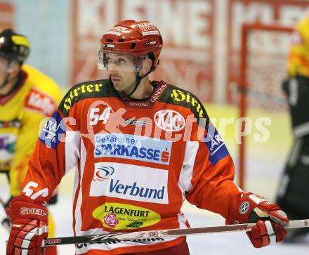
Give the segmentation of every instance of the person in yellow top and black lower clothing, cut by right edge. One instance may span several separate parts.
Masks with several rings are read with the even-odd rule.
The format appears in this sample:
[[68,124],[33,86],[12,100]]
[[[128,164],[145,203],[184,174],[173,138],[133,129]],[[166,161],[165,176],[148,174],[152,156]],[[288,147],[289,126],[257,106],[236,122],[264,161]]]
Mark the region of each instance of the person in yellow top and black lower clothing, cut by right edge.
[[[288,59],[287,94],[294,145],[277,193],[277,203],[291,219],[309,218],[309,12],[295,27]],[[289,231],[288,242],[301,242],[303,228]]]

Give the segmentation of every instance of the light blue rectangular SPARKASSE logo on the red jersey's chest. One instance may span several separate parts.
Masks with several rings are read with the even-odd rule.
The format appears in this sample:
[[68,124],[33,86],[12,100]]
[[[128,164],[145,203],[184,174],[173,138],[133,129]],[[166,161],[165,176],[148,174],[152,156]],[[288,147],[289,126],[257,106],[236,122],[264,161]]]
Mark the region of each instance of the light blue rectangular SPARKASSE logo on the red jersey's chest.
[[169,164],[171,141],[123,133],[95,135],[94,157],[119,157]]

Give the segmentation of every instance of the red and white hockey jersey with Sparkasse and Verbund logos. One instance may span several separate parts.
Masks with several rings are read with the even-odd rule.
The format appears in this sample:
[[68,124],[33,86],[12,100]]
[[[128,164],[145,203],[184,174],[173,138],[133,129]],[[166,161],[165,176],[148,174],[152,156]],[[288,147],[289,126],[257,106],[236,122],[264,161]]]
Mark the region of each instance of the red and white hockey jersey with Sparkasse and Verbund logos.
[[[228,217],[242,191],[222,138],[194,95],[153,85],[145,100],[126,98],[108,80],[72,87],[39,137],[23,194],[48,200],[76,166],[74,235],[188,228],[185,199]],[[76,253],[150,251],[184,238],[78,245]]]

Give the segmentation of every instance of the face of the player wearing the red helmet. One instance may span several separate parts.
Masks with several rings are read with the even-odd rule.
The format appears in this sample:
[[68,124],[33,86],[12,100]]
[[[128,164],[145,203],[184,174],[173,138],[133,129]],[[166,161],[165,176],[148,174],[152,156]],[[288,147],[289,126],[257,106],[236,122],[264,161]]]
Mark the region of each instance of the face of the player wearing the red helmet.
[[107,53],[107,72],[114,89],[130,93],[136,84],[135,57],[129,54]]

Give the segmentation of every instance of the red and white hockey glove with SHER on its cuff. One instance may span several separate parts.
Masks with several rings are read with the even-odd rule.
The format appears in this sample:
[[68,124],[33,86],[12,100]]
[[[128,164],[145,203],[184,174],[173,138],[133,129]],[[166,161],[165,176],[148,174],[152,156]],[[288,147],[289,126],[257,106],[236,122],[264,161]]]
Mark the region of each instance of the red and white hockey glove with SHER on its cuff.
[[12,223],[6,255],[44,254],[41,246],[48,234],[48,211],[42,202],[22,195],[11,200],[6,209]]

